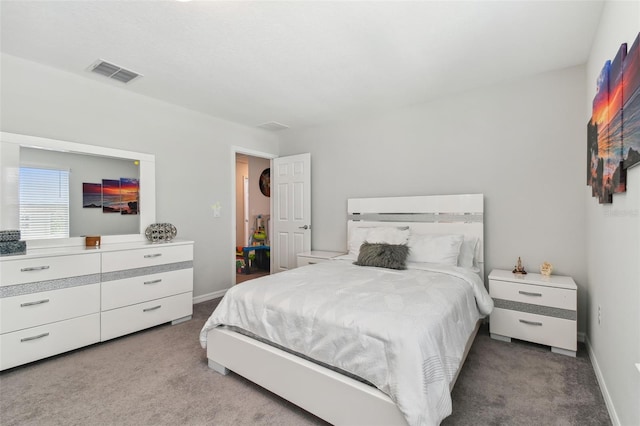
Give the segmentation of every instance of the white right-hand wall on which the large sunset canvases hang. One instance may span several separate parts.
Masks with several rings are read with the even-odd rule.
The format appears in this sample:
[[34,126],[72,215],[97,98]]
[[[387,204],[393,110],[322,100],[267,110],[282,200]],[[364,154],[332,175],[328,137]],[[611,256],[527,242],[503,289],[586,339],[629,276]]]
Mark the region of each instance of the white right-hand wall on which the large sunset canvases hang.
[[[631,47],[639,30],[639,2],[605,3],[587,63],[585,123],[602,66],[622,43]],[[588,344],[614,424],[640,425],[640,372],[634,366],[640,363],[640,165],[628,170],[627,192],[614,194],[613,204],[599,205],[589,188],[584,198]]]

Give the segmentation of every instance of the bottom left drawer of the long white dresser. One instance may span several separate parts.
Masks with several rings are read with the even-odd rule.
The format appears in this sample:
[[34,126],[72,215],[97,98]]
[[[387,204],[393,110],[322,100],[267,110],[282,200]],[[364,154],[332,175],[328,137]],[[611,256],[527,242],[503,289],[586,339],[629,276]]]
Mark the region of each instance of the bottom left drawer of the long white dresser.
[[100,314],[59,321],[0,336],[0,370],[100,341]]

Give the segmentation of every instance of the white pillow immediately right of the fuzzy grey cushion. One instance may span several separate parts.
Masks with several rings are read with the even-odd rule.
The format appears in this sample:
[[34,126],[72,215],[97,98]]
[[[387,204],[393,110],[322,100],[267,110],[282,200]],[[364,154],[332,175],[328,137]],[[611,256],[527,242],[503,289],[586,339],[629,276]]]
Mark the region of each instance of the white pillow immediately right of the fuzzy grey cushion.
[[409,237],[408,262],[457,265],[464,236],[452,234],[412,234]]

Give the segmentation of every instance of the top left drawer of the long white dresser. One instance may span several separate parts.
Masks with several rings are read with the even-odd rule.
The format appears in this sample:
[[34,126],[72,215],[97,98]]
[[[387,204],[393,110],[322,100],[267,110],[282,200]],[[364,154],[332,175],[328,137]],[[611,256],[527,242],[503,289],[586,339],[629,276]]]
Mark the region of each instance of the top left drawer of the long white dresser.
[[0,262],[0,285],[9,286],[99,273],[99,253],[10,260]]

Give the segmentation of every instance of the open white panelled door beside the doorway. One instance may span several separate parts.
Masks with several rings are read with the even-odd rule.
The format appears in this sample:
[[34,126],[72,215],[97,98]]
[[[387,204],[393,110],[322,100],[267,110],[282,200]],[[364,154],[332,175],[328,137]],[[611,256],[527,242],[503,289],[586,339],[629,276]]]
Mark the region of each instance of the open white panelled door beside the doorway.
[[273,159],[271,272],[296,267],[296,256],[311,250],[311,154]]

